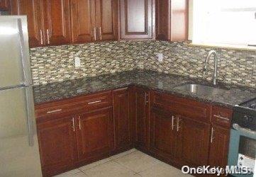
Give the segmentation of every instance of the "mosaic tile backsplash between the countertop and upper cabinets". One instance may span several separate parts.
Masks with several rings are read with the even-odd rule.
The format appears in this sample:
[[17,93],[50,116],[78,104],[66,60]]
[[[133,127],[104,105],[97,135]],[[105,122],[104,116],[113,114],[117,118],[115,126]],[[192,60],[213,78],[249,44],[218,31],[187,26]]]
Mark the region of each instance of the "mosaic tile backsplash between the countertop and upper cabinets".
[[[204,59],[212,48],[189,46],[184,42],[114,41],[30,49],[33,84],[77,79],[133,69],[149,69],[211,80],[213,59],[202,73]],[[218,80],[256,88],[256,52],[217,49]],[[164,55],[157,62],[157,53]],[[81,67],[74,67],[74,58]]]

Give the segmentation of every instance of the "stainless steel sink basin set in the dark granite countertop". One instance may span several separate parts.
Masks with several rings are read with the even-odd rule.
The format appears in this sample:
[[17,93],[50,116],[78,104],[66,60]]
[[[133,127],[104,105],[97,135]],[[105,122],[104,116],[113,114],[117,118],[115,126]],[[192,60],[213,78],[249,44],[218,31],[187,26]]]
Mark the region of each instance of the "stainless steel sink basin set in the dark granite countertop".
[[220,93],[225,93],[225,89],[219,89],[211,86],[203,86],[199,84],[185,84],[182,86],[177,86],[174,89],[178,89],[180,91],[186,91],[190,93],[198,93],[203,95],[216,95]]

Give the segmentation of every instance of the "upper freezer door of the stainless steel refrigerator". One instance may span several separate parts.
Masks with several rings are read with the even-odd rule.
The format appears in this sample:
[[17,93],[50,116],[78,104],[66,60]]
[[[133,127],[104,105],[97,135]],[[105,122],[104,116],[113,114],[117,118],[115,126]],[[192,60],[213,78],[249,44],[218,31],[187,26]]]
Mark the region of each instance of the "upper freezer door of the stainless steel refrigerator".
[[0,90],[30,86],[26,16],[0,16]]

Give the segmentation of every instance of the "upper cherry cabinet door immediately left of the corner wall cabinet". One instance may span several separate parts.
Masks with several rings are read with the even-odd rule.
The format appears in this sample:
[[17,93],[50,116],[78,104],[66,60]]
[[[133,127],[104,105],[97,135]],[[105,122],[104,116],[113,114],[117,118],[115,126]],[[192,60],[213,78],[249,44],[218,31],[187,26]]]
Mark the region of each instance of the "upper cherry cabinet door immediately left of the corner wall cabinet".
[[95,0],[96,1],[96,28],[98,30],[97,40],[118,39],[118,1],[117,0]]

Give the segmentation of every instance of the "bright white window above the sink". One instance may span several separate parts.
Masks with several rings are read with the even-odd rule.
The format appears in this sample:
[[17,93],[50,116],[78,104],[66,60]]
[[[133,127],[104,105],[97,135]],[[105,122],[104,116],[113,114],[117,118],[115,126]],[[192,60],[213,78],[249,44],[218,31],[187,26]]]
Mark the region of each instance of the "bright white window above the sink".
[[189,8],[193,43],[256,47],[256,0],[189,0]]

